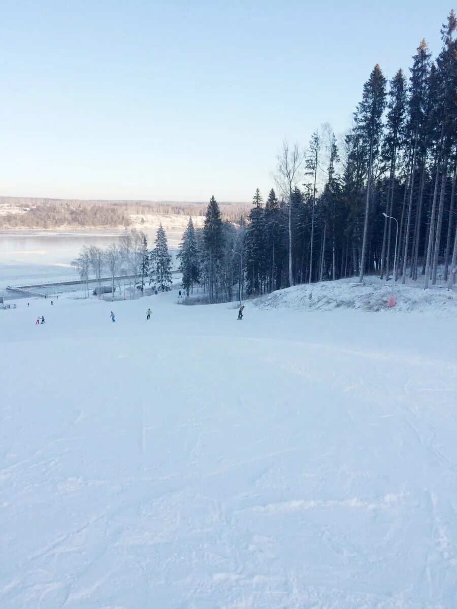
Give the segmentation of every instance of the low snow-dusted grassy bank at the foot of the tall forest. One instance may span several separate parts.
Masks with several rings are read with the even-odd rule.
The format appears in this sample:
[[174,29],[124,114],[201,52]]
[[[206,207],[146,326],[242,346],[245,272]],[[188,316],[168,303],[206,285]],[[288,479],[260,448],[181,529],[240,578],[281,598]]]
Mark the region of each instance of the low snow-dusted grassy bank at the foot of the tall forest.
[[394,295],[392,311],[422,311],[431,315],[457,314],[457,292],[445,286],[423,290],[421,284],[403,286],[401,282],[386,284],[379,277],[366,277],[360,284],[356,278],[294,286],[264,298],[253,300],[260,309],[290,308],[299,311],[331,311],[331,309],[387,310],[388,297]]

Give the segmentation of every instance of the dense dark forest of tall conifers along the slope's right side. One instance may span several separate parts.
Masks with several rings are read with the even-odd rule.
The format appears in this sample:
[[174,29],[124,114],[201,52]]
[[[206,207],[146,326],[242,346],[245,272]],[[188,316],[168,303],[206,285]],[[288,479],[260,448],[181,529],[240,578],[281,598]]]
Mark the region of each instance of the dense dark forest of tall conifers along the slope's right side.
[[[432,60],[422,40],[409,68],[388,82],[375,65],[349,132],[330,125],[308,150],[287,140],[264,201],[247,218],[223,222],[211,199],[204,228],[182,245],[183,284],[203,284],[208,301],[257,295],[297,283],[365,273],[381,280],[455,283],[457,262],[457,22],[442,27]],[[317,184],[321,183],[321,188]],[[241,269],[239,267],[241,266]]]

